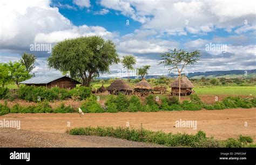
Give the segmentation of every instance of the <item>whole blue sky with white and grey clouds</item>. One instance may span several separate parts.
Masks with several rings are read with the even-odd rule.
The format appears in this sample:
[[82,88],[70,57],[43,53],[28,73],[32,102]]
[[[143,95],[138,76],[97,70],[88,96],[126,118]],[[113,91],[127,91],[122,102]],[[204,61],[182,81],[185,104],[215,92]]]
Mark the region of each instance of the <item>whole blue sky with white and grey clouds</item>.
[[[159,54],[171,49],[200,50],[185,72],[250,70],[256,67],[256,1],[25,0],[0,2],[0,60],[35,54],[36,75],[49,69],[49,49],[57,42],[100,35],[116,44],[120,58],[134,55],[135,68],[150,64],[149,75],[167,75]],[[135,76],[133,71],[130,76]],[[123,77],[122,64],[102,77]]]

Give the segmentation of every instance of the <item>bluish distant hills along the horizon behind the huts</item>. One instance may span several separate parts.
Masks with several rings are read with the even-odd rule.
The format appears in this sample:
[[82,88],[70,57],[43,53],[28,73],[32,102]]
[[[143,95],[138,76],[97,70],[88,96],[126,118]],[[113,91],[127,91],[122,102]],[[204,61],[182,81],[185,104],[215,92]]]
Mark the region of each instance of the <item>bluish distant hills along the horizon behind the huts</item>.
[[[256,69],[253,70],[225,70],[225,71],[205,71],[205,72],[194,72],[194,73],[188,73],[186,76],[188,78],[201,78],[201,77],[206,77],[206,78],[211,78],[211,77],[225,77],[225,78],[237,78],[237,77],[245,77],[245,73],[247,71],[247,76],[248,77],[254,77],[256,78]],[[182,75],[185,75],[182,74]],[[162,75],[164,76],[164,75]],[[169,74],[166,75],[167,77],[177,77],[177,74]],[[159,78],[161,77],[160,75],[148,75],[146,78]],[[122,77],[122,78],[127,78],[127,77]],[[130,76],[131,79],[138,78],[136,76]],[[139,76],[139,78],[141,78]]]

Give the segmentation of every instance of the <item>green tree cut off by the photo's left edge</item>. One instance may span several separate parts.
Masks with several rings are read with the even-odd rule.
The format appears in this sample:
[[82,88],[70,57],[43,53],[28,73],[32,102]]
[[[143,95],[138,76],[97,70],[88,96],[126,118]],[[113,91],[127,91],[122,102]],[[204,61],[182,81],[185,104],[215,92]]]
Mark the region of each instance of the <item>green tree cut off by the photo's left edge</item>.
[[0,63],[0,83],[2,87],[11,82],[11,71],[8,63]]

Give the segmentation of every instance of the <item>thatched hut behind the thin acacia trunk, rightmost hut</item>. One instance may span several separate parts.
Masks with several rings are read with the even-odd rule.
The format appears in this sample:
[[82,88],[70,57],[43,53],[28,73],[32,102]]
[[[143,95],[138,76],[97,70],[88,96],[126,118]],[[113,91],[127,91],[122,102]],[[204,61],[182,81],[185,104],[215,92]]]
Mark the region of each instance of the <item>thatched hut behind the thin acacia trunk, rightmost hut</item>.
[[[171,84],[172,88],[172,96],[179,95],[179,77]],[[186,76],[180,78],[180,96],[187,96],[192,94],[194,91],[192,90],[194,85]]]

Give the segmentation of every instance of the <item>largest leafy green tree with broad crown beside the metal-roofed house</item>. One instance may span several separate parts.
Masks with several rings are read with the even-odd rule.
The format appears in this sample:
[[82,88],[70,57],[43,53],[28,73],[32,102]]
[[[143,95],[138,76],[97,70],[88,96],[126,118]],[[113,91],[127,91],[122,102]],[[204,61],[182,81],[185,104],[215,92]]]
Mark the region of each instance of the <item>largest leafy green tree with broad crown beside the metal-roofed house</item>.
[[92,78],[109,72],[111,64],[119,62],[116,46],[99,36],[66,39],[52,48],[48,66],[69,73],[89,87]]

